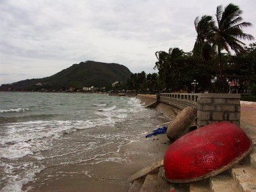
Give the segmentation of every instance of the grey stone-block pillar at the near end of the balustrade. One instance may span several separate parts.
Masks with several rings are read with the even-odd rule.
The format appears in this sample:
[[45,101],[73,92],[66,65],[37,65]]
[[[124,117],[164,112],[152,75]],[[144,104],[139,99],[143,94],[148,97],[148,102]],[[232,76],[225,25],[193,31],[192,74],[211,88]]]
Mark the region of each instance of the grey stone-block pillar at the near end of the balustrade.
[[240,125],[240,94],[202,93],[197,100],[197,127],[228,121]]

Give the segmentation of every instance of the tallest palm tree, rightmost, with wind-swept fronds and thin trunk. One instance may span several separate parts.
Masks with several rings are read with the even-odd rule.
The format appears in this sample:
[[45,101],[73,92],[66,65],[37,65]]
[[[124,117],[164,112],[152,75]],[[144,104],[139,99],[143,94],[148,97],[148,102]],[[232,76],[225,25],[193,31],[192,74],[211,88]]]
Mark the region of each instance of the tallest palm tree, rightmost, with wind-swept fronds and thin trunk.
[[[219,57],[219,72],[220,72],[220,82],[221,88],[223,89],[223,64],[221,61],[221,51],[230,52],[231,48],[234,52],[244,51],[244,43],[240,40],[253,40],[252,35],[248,35],[243,32],[243,28],[252,26],[250,22],[242,22],[243,18],[241,17],[242,10],[239,6],[235,4],[228,4],[223,10],[223,6],[220,5],[217,7],[216,18],[218,26],[212,28],[214,30],[214,45],[218,49]],[[224,90],[223,90],[224,91]]]

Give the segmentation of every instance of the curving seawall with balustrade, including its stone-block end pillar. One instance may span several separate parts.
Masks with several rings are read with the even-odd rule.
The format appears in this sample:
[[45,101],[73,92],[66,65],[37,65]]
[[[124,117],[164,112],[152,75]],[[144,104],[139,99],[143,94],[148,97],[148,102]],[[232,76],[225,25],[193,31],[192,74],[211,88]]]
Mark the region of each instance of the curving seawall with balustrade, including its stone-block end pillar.
[[[195,106],[197,108],[197,127],[214,122],[228,121],[240,125],[240,94],[220,93],[160,93],[156,95],[137,95],[148,108],[156,108],[162,113],[177,114],[180,110]],[[168,115],[167,115],[168,116]]]

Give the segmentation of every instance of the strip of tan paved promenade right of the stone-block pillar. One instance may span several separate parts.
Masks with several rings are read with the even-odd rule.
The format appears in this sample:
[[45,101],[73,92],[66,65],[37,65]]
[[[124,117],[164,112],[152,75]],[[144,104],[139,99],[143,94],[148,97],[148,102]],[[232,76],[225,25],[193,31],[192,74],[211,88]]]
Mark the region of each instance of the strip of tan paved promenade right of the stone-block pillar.
[[240,125],[256,145],[256,102],[241,101]]

